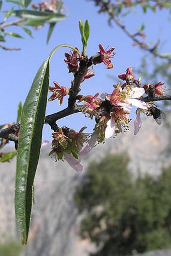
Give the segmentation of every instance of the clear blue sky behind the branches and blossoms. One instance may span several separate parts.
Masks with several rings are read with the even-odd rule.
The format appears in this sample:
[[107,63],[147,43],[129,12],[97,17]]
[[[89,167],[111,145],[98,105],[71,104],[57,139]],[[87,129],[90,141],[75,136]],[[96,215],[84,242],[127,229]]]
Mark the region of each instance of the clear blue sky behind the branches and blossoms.
[[[37,2],[37,1],[35,1]],[[48,27],[45,26],[40,30],[33,30],[34,39],[31,39],[22,31],[21,34],[25,39],[11,38],[7,41],[6,46],[21,47],[21,51],[1,51],[0,67],[1,67],[1,118],[0,124],[12,123],[17,118],[18,103],[24,103],[27,93],[30,89],[34,76],[50,51],[59,44],[69,44],[76,46],[81,51],[81,40],[78,31],[78,20],[89,20],[91,33],[88,42],[88,56],[98,52],[98,45],[101,43],[104,48],[115,47],[116,56],[114,57],[113,69],[106,69],[103,64],[96,65],[94,71],[96,75],[82,83],[83,95],[94,95],[97,92],[112,92],[112,84],[118,74],[124,73],[128,66],[138,68],[141,57],[145,52],[138,47],[132,46],[132,41],[123,31],[115,24],[113,27],[108,25],[107,15],[99,15],[97,8],[92,2],[85,0],[65,0],[64,5],[69,9],[69,16],[62,22],[58,23],[52,34],[50,42],[46,45],[46,36]],[[3,10],[9,9],[11,4],[4,4]],[[2,15],[1,15],[2,17]],[[168,23],[168,11],[163,10],[153,14],[148,11],[146,15],[142,14],[139,9],[136,12],[124,18],[127,28],[135,32],[142,23],[145,23],[145,32],[148,35],[148,42],[156,42],[157,38],[161,38],[162,52],[170,51],[170,23]],[[1,18],[2,20],[2,18]],[[20,28],[8,28],[9,32],[19,33]],[[50,63],[50,85],[56,80],[61,86],[70,87],[72,74],[68,74],[66,64],[63,62],[64,52],[66,48],[60,49],[53,56]],[[149,61],[149,69],[151,68]],[[109,78],[110,75],[110,78]],[[137,74],[138,75],[138,74]],[[112,79],[114,77],[114,79]],[[49,94],[50,96],[50,94]],[[58,102],[48,102],[47,114],[51,114],[62,110],[66,107],[66,101],[62,106],[58,106]],[[95,122],[85,119],[80,114],[75,114],[64,118],[58,122],[59,126],[68,126],[72,129],[79,130],[82,126],[88,126],[88,132],[91,132]],[[50,139],[51,130],[45,125],[43,139]]]

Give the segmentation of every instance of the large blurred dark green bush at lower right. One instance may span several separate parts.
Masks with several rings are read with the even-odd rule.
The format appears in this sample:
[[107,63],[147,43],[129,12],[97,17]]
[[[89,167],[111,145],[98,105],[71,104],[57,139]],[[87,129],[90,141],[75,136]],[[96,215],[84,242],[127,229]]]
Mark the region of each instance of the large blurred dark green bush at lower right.
[[133,179],[128,156],[92,162],[75,202],[80,235],[98,246],[94,256],[124,256],[171,247],[171,166],[158,178]]

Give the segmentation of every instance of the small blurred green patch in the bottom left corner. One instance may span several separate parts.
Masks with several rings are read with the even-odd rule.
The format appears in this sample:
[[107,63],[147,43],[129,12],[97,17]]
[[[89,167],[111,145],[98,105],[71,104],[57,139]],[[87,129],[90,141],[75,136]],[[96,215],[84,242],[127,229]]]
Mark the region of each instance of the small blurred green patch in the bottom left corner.
[[21,253],[21,250],[22,250],[21,244],[15,240],[0,243],[1,256],[19,256]]

